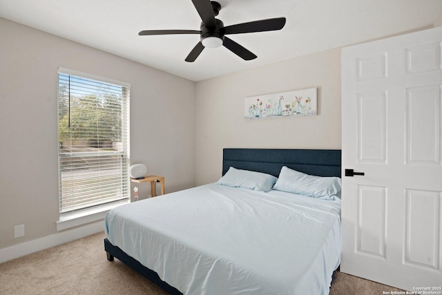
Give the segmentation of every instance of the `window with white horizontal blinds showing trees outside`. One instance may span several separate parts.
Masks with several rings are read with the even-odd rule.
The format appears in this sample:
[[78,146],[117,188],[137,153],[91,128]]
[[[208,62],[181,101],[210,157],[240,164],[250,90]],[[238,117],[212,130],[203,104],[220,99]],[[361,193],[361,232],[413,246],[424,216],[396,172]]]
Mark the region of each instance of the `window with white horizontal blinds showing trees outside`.
[[59,212],[127,201],[130,85],[59,69]]

